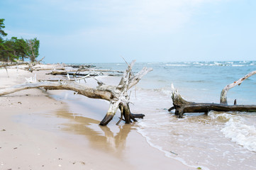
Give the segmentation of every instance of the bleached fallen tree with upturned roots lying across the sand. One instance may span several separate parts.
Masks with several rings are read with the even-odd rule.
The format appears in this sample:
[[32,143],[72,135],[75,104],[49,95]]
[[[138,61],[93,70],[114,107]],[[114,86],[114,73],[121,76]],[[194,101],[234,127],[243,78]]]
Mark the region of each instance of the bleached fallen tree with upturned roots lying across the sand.
[[118,86],[106,85],[101,81],[97,81],[99,86],[91,88],[86,84],[79,84],[77,81],[35,82],[35,80],[33,80],[33,83],[20,84],[6,89],[0,89],[0,96],[12,94],[16,91],[35,88],[43,88],[46,91],[58,89],[72,90],[77,94],[82,94],[89,98],[101,98],[110,102],[108,112],[104,119],[101,120],[100,125],[107,125],[108,122],[112,120],[118,109],[121,111],[121,118],[118,123],[120,123],[123,118],[126,123],[130,123],[131,120],[136,121],[135,118],[143,118],[145,115],[130,113],[130,97],[128,96],[128,90],[135,86],[135,84],[137,84],[145,74],[152,71],[151,68],[148,69],[147,67],[144,67],[140,72],[134,75],[131,70],[134,63],[135,60],[128,65],[128,68],[126,69],[126,72],[123,73],[123,77],[121,78]]

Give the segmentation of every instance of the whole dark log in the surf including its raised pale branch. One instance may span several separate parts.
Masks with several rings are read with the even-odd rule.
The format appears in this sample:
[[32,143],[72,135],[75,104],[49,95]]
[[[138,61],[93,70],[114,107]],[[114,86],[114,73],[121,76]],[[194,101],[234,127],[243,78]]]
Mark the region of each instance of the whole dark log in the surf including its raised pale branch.
[[186,101],[182,98],[182,96],[178,93],[177,89],[174,89],[172,84],[172,102],[173,107],[169,108],[168,111],[172,111],[175,109],[175,115],[178,118],[182,118],[184,113],[208,113],[209,111],[245,111],[251,112],[256,111],[256,105],[237,105],[236,100],[234,101],[234,105],[228,105],[227,103],[227,92],[229,89],[233,88],[236,85],[240,85],[243,80],[248,77],[256,74],[255,72],[250,72],[245,75],[245,77],[239,79],[238,81],[233,82],[233,84],[229,84],[224,87],[221,91],[221,103],[195,103],[191,101]]

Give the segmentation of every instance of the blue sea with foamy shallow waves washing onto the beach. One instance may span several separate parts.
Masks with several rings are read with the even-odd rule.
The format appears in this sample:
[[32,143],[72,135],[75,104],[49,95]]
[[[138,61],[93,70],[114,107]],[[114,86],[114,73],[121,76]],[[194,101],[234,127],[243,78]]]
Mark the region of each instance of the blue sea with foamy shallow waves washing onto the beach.
[[[126,63],[94,64],[125,70]],[[255,61],[135,63],[133,72],[152,67],[131,92],[131,111],[143,113],[138,132],[166,157],[201,169],[255,169],[256,113],[187,113],[177,119],[171,84],[187,101],[219,103],[221,90],[254,70]],[[228,103],[256,105],[256,75],[228,91]]]

